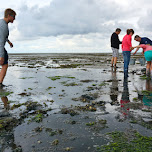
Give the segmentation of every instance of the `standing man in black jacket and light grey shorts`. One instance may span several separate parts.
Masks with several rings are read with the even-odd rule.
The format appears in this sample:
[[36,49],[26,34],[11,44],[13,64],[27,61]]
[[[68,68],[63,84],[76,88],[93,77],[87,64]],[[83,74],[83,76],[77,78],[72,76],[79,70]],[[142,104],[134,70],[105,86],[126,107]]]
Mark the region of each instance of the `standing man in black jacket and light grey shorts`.
[[117,58],[119,57],[119,44],[120,42],[118,35],[120,34],[121,29],[117,28],[116,31],[111,35],[111,49],[112,49],[112,59],[111,59],[111,67],[116,68]]

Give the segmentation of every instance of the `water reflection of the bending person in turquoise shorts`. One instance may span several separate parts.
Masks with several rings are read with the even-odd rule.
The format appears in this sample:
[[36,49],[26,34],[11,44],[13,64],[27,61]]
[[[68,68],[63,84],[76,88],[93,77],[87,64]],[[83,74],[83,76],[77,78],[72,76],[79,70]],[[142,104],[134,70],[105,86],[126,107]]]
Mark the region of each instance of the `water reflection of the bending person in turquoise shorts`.
[[152,106],[152,81],[146,80],[146,93],[143,95],[144,106]]

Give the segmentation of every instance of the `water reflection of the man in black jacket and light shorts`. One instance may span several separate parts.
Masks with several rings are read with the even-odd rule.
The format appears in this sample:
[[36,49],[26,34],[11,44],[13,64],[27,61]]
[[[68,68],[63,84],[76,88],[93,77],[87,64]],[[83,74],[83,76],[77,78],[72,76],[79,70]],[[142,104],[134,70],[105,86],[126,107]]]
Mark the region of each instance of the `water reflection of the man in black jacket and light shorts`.
[[112,73],[112,85],[110,87],[110,98],[112,100],[111,105],[114,105],[118,102],[118,80],[116,75],[116,68],[111,69]]

